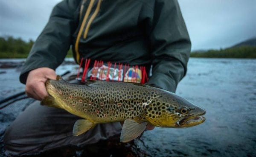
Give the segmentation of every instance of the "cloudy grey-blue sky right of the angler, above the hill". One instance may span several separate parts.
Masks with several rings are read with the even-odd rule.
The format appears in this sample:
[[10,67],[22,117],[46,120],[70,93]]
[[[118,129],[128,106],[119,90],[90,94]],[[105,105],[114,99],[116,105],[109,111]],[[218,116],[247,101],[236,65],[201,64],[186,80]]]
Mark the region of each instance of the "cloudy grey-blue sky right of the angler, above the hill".
[[178,0],[192,50],[226,48],[256,36],[255,0]]

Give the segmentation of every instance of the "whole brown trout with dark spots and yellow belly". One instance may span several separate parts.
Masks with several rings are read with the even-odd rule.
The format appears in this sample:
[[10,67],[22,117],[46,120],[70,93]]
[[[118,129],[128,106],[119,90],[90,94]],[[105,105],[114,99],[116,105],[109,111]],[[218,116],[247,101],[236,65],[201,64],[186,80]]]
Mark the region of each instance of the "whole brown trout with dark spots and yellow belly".
[[65,109],[83,119],[76,121],[73,135],[81,135],[98,123],[122,122],[121,142],[140,136],[149,123],[183,128],[205,121],[205,110],[169,91],[145,84],[88,80],[71,84],[61,76],[47,80],[50,96],[42,105]]

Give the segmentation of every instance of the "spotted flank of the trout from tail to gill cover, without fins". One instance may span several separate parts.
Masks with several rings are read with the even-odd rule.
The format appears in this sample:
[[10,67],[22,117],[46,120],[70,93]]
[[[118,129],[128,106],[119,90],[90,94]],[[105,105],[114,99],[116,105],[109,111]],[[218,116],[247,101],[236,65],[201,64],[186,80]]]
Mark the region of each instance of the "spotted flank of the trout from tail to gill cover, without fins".
[[60,108],[94,123],[141,120],[147,103],[157,97],[155,89],[149,91],[146,85],[134,83],[89,81],[78,85],[48,80],[46,88]]

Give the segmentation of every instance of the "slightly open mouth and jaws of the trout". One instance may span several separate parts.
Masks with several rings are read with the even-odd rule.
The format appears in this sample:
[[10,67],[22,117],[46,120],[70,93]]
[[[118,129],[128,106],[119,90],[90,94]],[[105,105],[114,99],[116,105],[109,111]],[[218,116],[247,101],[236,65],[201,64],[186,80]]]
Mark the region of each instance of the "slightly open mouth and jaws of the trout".
[[202,115],[204,115],[204,113],[197,115],[197,116],[182,118],[180,121],[177,121],[175,126],[176,127],[190,127],[190,126],[199,125],[205,121],[204,116],[202,116]]

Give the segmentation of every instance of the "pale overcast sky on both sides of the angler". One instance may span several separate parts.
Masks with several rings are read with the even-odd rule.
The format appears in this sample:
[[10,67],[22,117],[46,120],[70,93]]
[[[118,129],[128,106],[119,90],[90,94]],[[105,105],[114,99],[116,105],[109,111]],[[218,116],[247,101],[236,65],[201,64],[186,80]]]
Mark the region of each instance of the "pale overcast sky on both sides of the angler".
[[[227,48],[256,36],[256,0],[178,0],[192,50]],[[0,0],[0,36],[35,40],[60,0]]]

